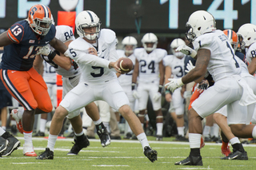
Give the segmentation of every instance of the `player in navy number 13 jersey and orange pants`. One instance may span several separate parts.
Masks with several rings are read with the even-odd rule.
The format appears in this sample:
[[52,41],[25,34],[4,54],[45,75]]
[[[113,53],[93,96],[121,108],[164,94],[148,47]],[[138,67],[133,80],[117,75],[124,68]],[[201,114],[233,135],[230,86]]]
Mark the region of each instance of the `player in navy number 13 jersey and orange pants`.
[[[46,83],[33,68],[34,57],[47,44],[69,56],[66,45],[54,38],[55,32],[49,7],[38,4],[30,8],[26,20],[14,23],[0,35],[0,46],[5,46],[1,63],[2,82],[25,109],[22,119],[18,120],[18,126],[24,130],[25,156],[37,156],[32,144],[34,114],[49,113],[53,108]],[[50,53],[49,57],[53,59],[56,53]],[[70,67],[70,58],[62,58]]]

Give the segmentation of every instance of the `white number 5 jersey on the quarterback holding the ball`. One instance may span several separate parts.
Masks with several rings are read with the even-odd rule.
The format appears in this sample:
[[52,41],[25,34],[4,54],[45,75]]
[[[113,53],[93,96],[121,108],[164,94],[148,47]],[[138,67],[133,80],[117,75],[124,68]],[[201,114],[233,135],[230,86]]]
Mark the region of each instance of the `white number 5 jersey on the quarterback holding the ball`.
[[[69,45],[72,59],[82,69],[81,81],[87,83],[100,83],[117,78],[114,69],[106,69],[110,61],[117,61],[119,58],[115,49],[116,36],[114,31],[102,29],[97,42],[97,44],[90,44],[79,37]],[[98,51],[98,56],[88,53],[90,47],[94,47]],[[94,57],[101,57],[105,60],[96,61]]]

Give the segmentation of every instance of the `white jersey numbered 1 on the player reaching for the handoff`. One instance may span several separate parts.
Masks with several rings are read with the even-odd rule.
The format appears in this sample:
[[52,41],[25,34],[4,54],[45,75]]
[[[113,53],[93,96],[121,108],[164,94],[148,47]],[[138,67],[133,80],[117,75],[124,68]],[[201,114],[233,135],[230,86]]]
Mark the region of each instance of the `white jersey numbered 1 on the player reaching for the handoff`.
[[229,39],[221,30],[202,34],[194,40],[193,45],[196,51],[198,49],[210,50],[210,61],[207,69],[215,82],[241,73],[241,67],[234,57],[234,49],[230,45]]

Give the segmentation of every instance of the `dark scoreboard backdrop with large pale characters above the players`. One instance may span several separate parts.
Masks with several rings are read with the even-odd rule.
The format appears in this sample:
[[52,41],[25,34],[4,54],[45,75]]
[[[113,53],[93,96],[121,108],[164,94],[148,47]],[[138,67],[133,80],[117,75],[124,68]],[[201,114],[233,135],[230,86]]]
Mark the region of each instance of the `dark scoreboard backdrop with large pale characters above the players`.
[[38,3],[50,7],[55,25],[70,26],[82,10],[94,11],[102,28],[116,32],[119,49],[122,38],[134,36],[140,46],[142,36],[152,32],[158,36],[158,48],[170,52],[174,38],[184,39],[186,22],[195,10],[213,14],[219,30],[237,31],[244,23],[256,24],[256,10],[252,10],[256,0],[0,0],[0,29],[27,18],[30,7]]

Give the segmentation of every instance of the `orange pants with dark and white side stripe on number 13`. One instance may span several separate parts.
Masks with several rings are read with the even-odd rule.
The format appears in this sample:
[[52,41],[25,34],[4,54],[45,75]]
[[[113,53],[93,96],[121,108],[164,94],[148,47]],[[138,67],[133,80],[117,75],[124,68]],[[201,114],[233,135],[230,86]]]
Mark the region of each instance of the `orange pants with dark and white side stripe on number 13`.
[[52,111],[46,82],[34,68],[28,71],[1,69],[0,72],[2,83],[25,110],[38,108],[46,113]]

